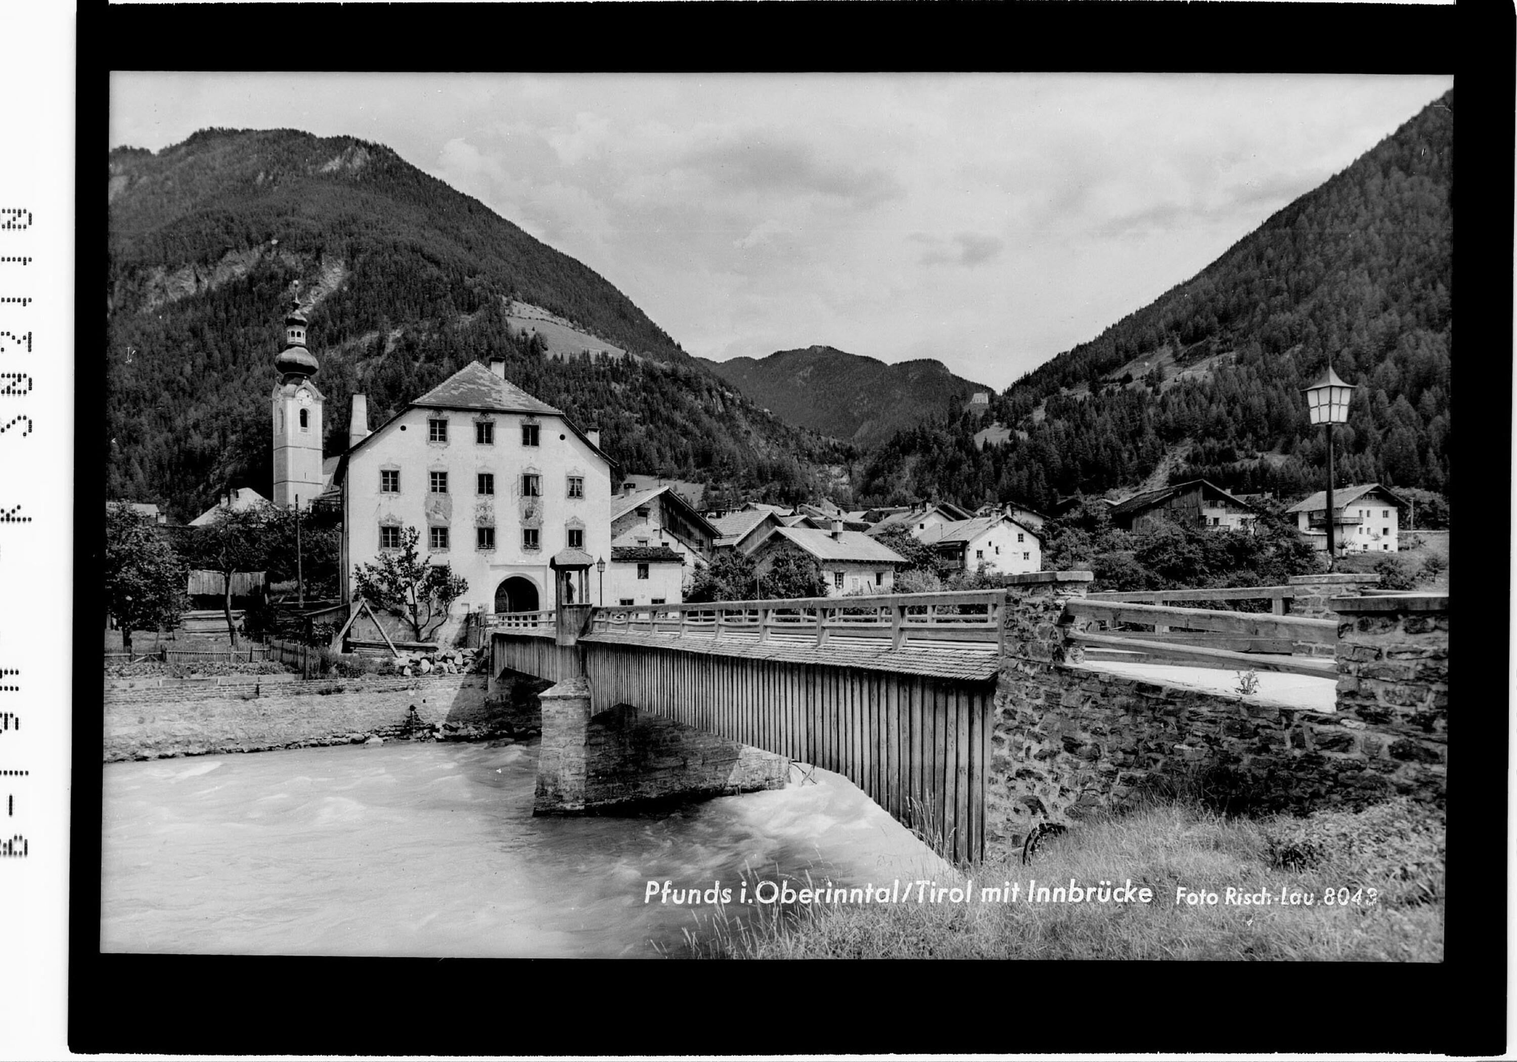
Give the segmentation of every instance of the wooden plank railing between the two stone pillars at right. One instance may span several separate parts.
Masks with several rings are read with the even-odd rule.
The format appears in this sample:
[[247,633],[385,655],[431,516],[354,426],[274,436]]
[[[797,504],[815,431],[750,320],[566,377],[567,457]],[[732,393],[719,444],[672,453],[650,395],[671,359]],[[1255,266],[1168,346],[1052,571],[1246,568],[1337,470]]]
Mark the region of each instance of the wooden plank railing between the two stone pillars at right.
[[[1156,661],[1195,668],[1283,671],[1318,677],[1333,674],[1330,648],[1338,639],[1338,622],[1332,619],[1091,598],[1071,598],[1065,611],[1077,621],[1069,637],[1088,648],[1141,652]],[[1092,621],[1148,625],[1154,631],[1098,633],[1088,630]],[[1188,633],[1171,633],[1174,627]],[[1239,652],[1239,648],[1252,651]]]

